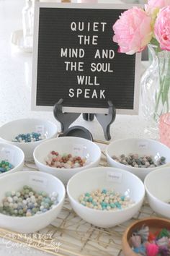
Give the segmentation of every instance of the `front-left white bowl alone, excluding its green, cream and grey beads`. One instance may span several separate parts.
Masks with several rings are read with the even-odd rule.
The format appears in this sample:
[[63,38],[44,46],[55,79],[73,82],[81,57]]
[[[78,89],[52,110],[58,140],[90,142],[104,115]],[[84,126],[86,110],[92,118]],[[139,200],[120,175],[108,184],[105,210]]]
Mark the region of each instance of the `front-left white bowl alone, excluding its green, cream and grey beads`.
[[40,171],[19,171],[0,178],[0,202],[6,192],[18,191],[24,185],[32,187],[37,192],[45,191],[48,194],[58,192],[58,205],[45,213],[30,217],[6,216],[0,213],[1,228],[20,233],[32,233],[48,226],[61,211],[66,195],[63,183],[55,176],[43,174]]

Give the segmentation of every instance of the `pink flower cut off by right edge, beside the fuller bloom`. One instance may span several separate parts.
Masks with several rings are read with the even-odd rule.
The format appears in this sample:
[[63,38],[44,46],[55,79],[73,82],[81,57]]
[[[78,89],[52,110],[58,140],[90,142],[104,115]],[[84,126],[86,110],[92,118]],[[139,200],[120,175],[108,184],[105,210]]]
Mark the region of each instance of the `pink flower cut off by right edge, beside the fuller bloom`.
[[170,51],[170,6],[164,7],[156,18],[154,33],[160,48]]

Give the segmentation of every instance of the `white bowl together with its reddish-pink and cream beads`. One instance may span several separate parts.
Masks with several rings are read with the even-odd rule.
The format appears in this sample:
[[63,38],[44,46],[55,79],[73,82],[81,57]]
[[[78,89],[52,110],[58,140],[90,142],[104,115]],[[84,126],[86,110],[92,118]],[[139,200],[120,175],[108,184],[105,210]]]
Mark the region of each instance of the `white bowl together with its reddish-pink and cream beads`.
[[58,137],[35,148],[35,164],[40,171],[57,176],[64,184],[79,171],[99,165],[101,150],[81,137]]

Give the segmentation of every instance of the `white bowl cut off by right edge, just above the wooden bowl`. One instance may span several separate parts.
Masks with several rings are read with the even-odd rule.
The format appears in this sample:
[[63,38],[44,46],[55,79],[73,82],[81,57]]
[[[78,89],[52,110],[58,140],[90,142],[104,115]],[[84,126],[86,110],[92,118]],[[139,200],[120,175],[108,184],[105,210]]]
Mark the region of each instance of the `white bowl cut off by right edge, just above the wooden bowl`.
[[159,168],[146,176],[146,195],[151,208],[161,216],[170,218],[170,166]]

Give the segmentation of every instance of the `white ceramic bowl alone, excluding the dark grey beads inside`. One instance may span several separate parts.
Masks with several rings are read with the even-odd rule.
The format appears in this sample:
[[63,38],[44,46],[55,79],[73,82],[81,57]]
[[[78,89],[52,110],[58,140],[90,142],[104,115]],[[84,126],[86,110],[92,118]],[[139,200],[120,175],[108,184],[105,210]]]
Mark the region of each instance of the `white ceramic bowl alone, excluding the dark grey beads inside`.
[[[122,168],[132,172],[142,181],[145,179],[147,174],[160,167],[136,168],[133,166],[125,166],[124,164],[118,163],[112,159],[113,155],[129,155],[130,153],[138,153],[140,156],[152,155],[155,160],[164,156],[166,158],[166,163],[170,163],[170,148],[156,140],[138,138],[115,140],[114,142],[111,142],[106,148],[107,163],[109,163],[109,166]],[[164,166],[166,166],[166,164]]]

